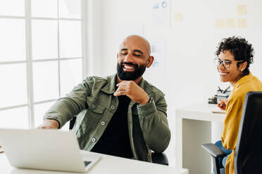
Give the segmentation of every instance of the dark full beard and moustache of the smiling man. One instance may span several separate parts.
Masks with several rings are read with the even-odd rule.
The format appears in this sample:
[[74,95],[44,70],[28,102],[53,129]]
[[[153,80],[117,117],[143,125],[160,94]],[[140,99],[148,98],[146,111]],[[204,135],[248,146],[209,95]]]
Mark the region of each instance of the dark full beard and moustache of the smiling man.
[[[123,70],[124,65],[132,65],[135,67],[135,70],[132,72],[125,72]],[[131,62],[120,62],[117,64],[117,72],[119,79],[123,81],[135,81],[135,79],[139,78],[139,76],[142,76],[144,74],[144,71],[146,70],[146,64],[141,65],[138,67],[137,64],[131,63]]]

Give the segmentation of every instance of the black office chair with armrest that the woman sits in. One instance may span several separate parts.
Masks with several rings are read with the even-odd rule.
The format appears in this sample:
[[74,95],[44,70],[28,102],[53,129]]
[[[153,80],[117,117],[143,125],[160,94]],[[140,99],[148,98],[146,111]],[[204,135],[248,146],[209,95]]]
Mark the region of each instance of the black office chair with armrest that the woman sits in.
[[[261,173],[262,159],[262,92],[249,92],[244,100],[242,118],[235,149],[235,174]],[[201,145],[213,158],[214,173],[225,173],[218,168],[218,157],[226,156],[216,145]]]

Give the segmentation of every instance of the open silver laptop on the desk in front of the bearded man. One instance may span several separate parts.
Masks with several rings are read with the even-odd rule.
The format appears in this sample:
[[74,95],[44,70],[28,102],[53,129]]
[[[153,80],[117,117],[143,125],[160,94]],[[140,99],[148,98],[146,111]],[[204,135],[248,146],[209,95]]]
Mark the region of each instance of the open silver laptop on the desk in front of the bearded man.
[[101,158],[92,153],[82,156],[71,131],[0,128],[0,143],[16,168],[85,173]]

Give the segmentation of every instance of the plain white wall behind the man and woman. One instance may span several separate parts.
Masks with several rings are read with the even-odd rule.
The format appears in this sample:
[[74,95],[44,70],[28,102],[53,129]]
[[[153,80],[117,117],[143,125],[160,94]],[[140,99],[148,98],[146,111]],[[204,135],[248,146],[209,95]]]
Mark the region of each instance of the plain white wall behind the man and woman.
[[[150,0],[95,0],[94,65],[98,76],[116,72],[116,54],[120,41],[126,34],[134,34],[144,26],[147,39],[166,39],[166,69],[162,74],[150,74],[145,79],[161,88],[168,101],[168,119],[173,134],[168,149],[173,166],[173,141],[175,136],[175,108],[211,97],[220,83],[213,65],[216,46],[227,36],[245,37],[254,46],[254,65],[251,72],[262,79],[262,1],[256,0],[173,0],[171,1],[171,27],[149,26]],[[247,5],[246,15],[237,15],[237,5]],[[182,14],[182,21],[174,21],[175,13]],[[246,18],[247,28],[216,28],[217,19]],[[97,23],[99,25],[97,25]],[[137,26],[137,31],[136,31]]]

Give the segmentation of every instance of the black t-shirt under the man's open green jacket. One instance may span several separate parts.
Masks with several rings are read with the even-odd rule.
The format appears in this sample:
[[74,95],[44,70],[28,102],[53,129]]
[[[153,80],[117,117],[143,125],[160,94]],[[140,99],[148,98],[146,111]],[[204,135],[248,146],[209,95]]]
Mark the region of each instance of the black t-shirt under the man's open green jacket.
[[132,149],[128,133],[127,109],[130,98],[126,95],[118,96],[118,109],[111,121],[108,123],[106,130],[94,145],[92,152],[109,154],[125,158],[132,158]]

